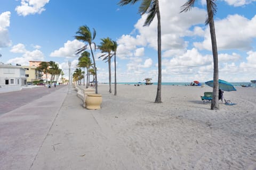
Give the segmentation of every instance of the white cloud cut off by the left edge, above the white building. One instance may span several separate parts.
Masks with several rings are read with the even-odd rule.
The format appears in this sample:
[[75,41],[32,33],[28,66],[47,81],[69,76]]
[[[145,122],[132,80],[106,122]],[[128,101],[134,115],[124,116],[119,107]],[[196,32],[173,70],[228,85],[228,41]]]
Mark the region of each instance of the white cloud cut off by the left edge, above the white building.
[[10,11],[0,14],[0,48],[8,47],[11,45],[11,41],[9,39],[9,31],[7,30],[7,27],[10,26],[10,16]]

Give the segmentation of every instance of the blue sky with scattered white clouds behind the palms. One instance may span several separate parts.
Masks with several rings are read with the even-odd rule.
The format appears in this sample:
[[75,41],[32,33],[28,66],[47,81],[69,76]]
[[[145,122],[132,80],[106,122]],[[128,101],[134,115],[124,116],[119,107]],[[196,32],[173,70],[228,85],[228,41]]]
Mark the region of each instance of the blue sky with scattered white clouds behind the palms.
[[[68,78],[77,68],[76,50],[86,45],[75,39],[87,25],[102,38],[117,42],[117,82],[157,82],[157,17],[143,27],[146,16],[135,5],[119,0],[0,0],[0,62],[29,65],[54,61]],[[187,0],[159,0],[162,25],[162,82],[205,82],[213,79],[213,57],[206,1],[180,13]],[[256,0],[218,0],[214,16],[219,79],[250,82],[256,79]],[[108,82],[108,64],[94,52],[98,81]],[[114,82],[114,58],[111,61]]]

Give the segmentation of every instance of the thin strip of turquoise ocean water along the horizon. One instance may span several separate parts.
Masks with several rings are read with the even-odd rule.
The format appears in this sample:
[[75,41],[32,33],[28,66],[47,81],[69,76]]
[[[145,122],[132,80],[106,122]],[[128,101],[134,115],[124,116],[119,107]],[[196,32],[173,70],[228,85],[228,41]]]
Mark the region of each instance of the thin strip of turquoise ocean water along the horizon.
[[[162,85],[168,85],[168,86],[189,86],[191,82],[162,82]],[[256,84],[253,84],[251,82],[230,82],[234,87],[241,87],[241,85],[247,86],[248,84],[251,84],[251,87],[256,87]],[[145,84],[145,82],[118,82],[117,84]],[[205,84],[205,83],[201,83]],[[157,85],[157,82],[153,82],[153,85]],[[206,85],[207,86],[207,85]]]

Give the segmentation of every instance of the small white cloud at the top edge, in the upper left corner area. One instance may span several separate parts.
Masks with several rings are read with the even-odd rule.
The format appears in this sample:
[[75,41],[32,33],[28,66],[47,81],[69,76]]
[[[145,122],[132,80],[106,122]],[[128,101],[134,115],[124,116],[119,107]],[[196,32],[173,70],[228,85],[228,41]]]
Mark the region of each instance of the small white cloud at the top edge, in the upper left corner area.
[[21,5],[15,8],[18,15],[29,15],[29,14],[41,14],[45,11],[44,6],[49,3],[50,0],[21,0]]

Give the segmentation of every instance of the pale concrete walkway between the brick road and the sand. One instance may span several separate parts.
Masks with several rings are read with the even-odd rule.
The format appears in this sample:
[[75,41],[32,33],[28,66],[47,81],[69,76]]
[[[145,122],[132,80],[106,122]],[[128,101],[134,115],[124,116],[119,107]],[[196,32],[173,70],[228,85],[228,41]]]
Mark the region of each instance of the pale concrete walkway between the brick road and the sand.
[[[82,101],[76,97],[76,91],[68,86],[43,90],[54,91],[0,115],[1,170],[53,169],[34,168],[38,152],[42,151],[46,138],[52,135],[49,132],[60,112],[73,113],[76,106],[82,105]],[[84,111],[82,107],[79,108]]]

